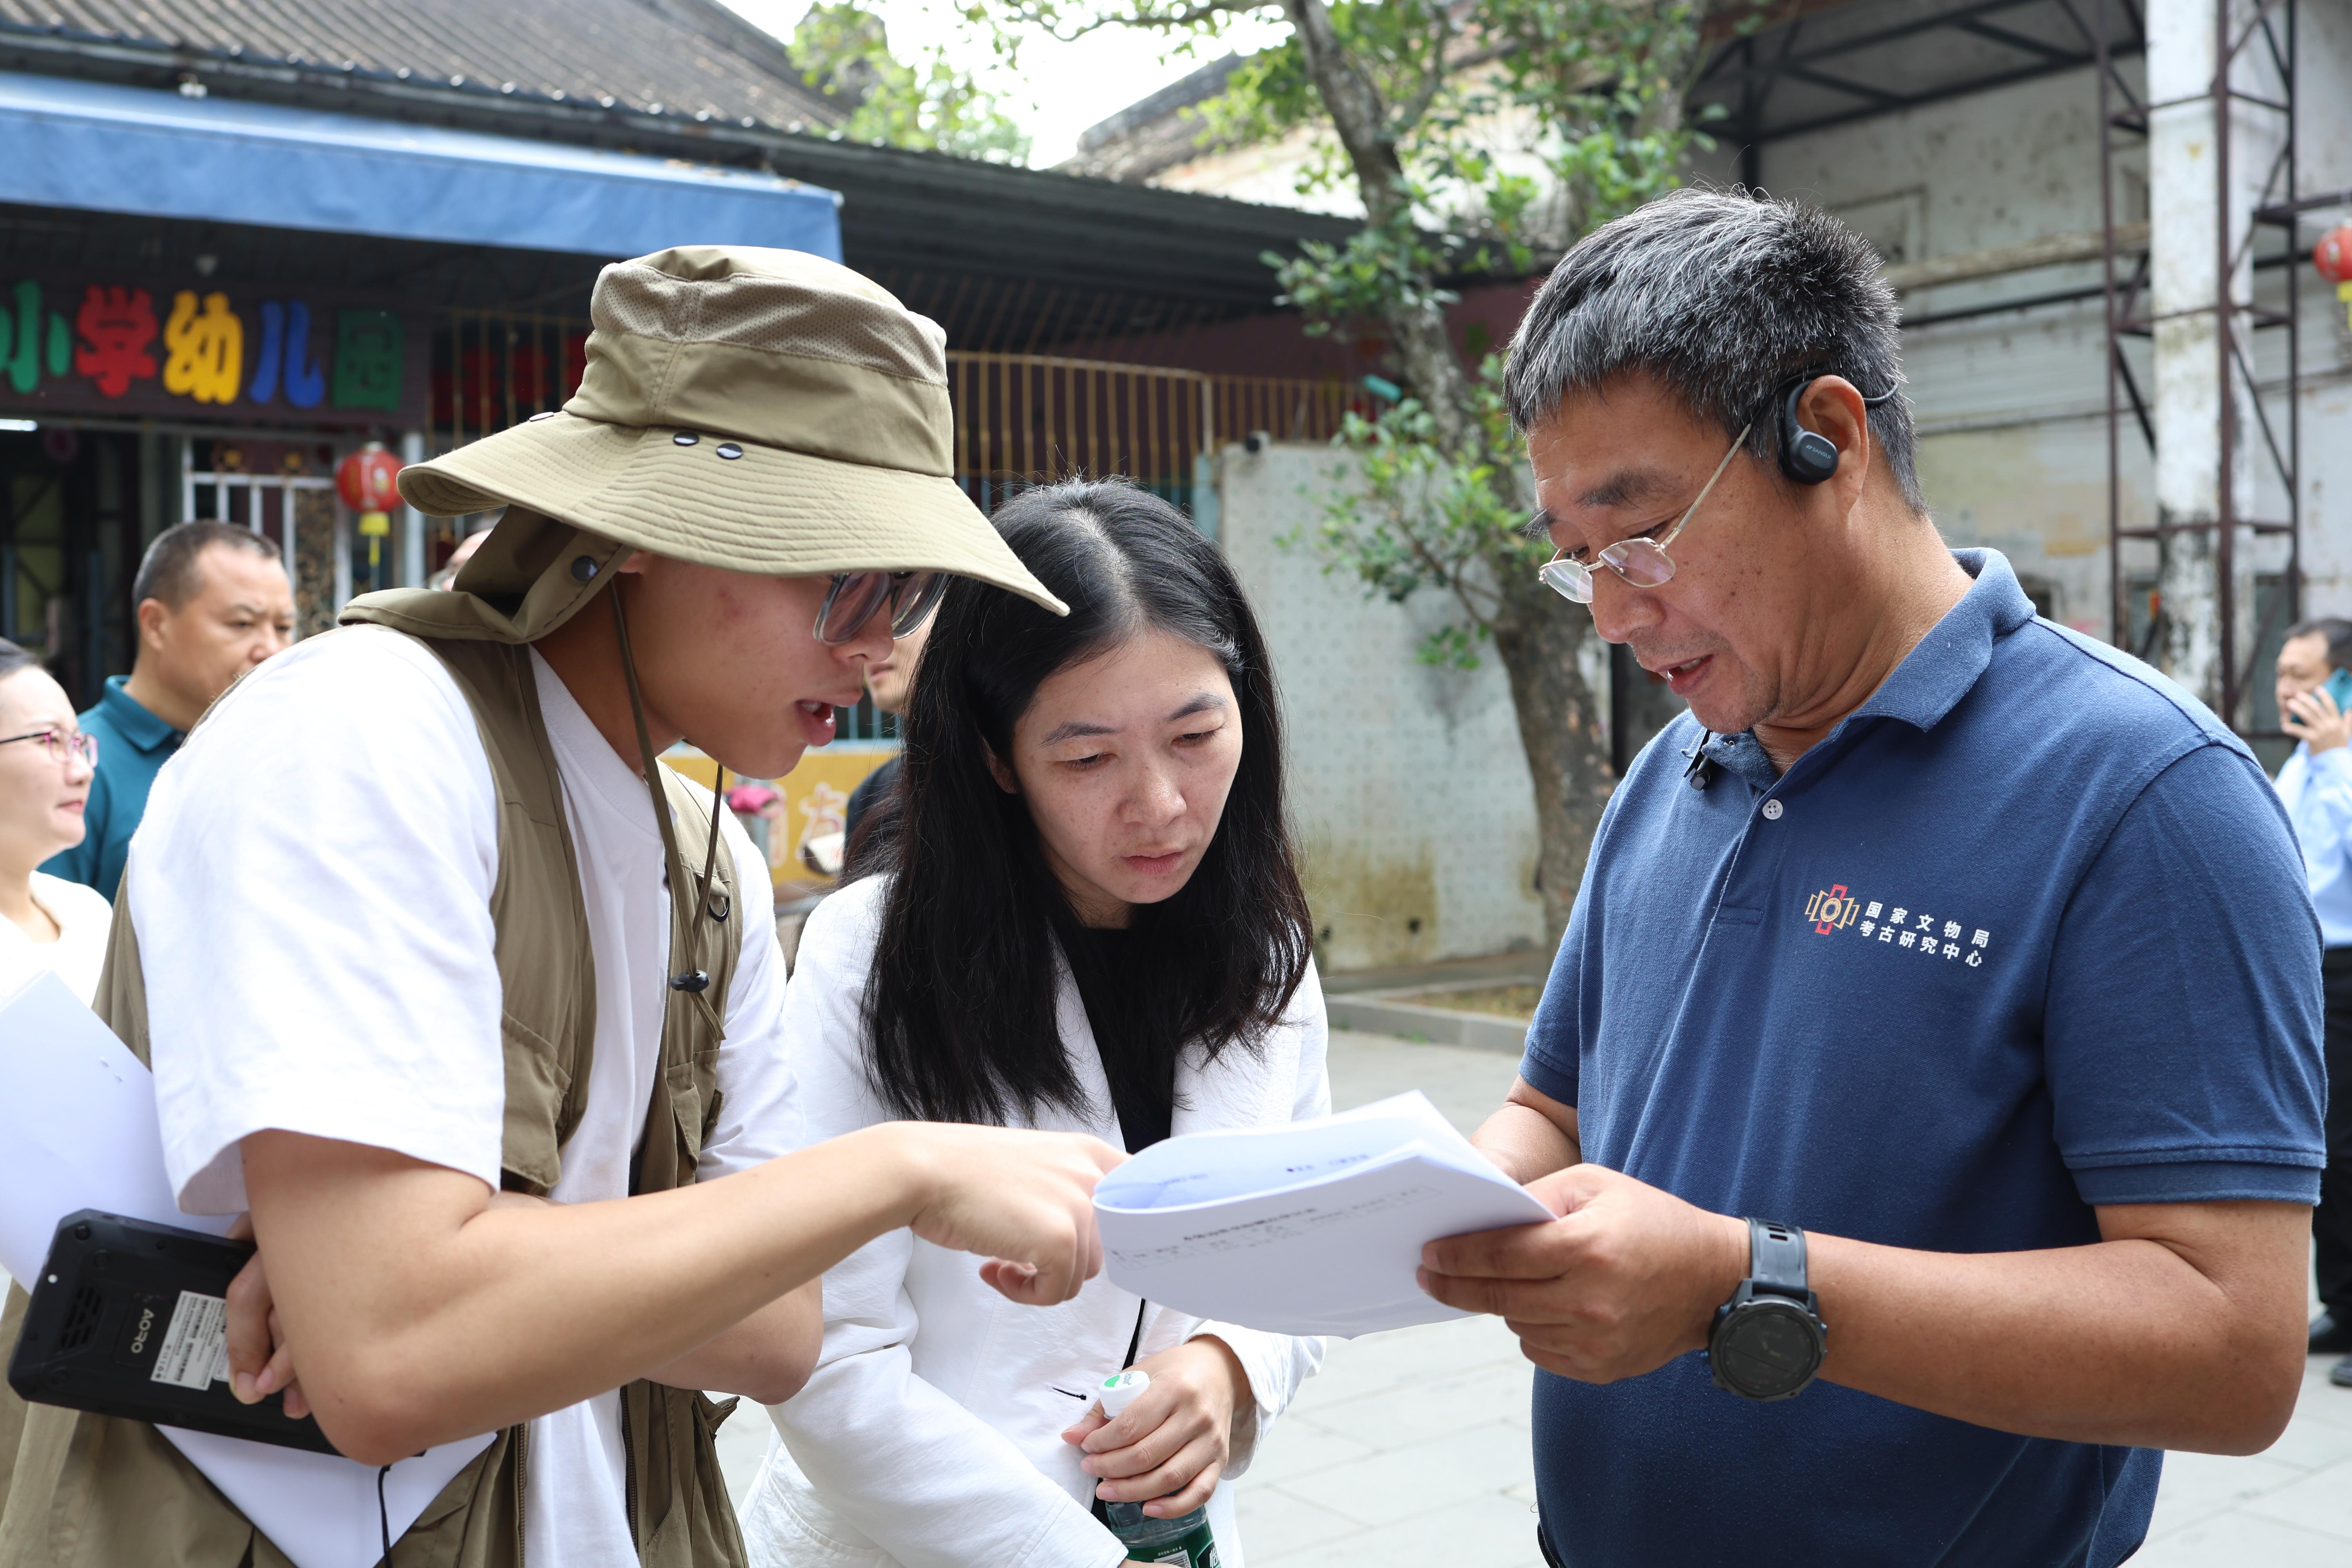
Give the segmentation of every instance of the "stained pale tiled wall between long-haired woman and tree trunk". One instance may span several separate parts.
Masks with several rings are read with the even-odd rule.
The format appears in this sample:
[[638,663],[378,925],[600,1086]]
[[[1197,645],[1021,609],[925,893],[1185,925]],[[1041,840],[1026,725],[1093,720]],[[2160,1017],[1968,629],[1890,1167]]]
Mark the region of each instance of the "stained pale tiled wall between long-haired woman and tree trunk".
[[1543,940],[1536,799],[1503,668],[1416,661],[1444,604],[1367,599],[1327,576],[1310,536],[1352,487],[1329,447],[1218,458],[1218,541],[1272,646],[1289,724],[1291,816],[1329,971],[1418,964]]

